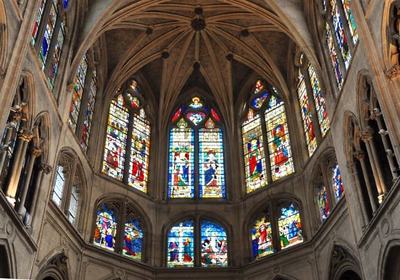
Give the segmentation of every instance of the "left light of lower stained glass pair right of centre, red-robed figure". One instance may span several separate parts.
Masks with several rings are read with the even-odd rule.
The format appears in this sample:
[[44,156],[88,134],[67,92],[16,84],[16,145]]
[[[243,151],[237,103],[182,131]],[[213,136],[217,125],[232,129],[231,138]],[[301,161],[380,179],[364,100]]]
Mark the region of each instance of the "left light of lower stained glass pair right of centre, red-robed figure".
[[274,253],[270,213],[263,211],[252,226],[252,248],[254,258],[262,258]]

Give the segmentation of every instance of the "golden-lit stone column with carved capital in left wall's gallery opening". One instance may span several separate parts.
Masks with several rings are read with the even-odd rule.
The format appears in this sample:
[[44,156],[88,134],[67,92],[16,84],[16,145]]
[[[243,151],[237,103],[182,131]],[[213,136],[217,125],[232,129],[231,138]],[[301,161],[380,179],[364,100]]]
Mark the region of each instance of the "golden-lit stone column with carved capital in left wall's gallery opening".
[[8,183],[6,189],[6,196],[8,202],[15,205],[15,194],[17,193],[18,182],[20,181],[22,166],[24,164],[24,155],[26,153],[26,148],[28,142],[31,141],[33,133],[31,130],[22,128],[18,134],[17,150],[15,151],[15,160],[13,164],[13,169],[10,173],[10,182]]

